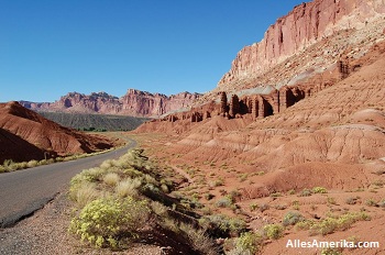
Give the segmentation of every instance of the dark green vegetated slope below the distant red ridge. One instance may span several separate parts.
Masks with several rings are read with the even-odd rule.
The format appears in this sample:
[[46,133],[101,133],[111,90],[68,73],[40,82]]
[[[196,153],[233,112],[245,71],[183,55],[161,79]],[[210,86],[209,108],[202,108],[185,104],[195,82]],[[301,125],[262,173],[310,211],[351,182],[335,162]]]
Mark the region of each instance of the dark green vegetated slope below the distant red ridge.
[[136,118],[127,115],[86,114],[86,113],[64,113],[64,112],[38,112],[44,118],[61,125],[80,131],[131,131],[136,129],[147,118]]

